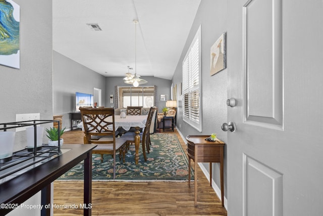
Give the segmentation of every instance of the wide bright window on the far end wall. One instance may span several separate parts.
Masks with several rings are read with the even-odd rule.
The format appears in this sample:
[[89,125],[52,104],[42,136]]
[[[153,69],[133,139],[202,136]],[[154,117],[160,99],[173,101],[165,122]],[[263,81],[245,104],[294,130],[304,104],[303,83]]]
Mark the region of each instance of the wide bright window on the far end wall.
[[119,87],[119,108],[127,106],[152,107],[154,103],[154,87]]

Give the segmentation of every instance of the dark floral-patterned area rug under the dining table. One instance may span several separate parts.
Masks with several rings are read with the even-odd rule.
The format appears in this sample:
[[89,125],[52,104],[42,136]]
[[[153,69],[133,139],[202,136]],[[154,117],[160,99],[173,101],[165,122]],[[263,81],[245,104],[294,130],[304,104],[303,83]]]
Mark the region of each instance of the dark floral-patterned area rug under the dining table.
[[[150,153],[145,162],[140,144],[139,162],[134,160],[135,146],[130,145],[126,154],[126,162],[119,160],[117,155],[116,179],[113,179],[112,155],[104,155],[103,162],[100,155],[92,155],[92,181],[188,181],[188,159],[175,134],[150,135]],[[191,169],[191,179],[194,180],[194,172]],[[58,180],[78,181],[83,180],[84,164],[79,163],[67,171]]]

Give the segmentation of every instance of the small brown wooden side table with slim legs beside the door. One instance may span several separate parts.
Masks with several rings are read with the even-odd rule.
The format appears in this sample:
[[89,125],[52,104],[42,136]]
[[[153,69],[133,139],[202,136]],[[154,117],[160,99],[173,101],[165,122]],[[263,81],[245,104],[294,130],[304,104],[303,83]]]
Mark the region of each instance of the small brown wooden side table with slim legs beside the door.
[[209,162],[210,167],[210,186],[212,187],[212,163],[220,163],[220,179],[221,179],[221,201],[224,206],[224,183],[223,183],[223,157],[225,143],[217,139],[215,142],[206,141],[209,136],[189,135],[187,140],[188,155],[188,185],[191,182],[191,159],[194,161],[194,205],[197,205],[197,163]]

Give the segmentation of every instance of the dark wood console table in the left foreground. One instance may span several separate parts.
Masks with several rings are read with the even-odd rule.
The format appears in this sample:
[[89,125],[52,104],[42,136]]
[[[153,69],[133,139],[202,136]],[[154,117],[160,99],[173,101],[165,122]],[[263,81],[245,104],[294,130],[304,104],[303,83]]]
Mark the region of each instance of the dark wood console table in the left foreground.
[[[95,145],[64,144],[62,154],[23,174],[0,184],[0,203],[13,208],[1,207],[0,215],[17,208],[18,204],[41,191],[41,204],[50,203],[50,183],[65,174],[69,169],[84,160],[84,206],[90,206],[92,199],[92,149]],[[19,207],[18,207],[19,208]],[[50,208],[41,209],[41,215],[49,215]],[[91,208],[84,208],[84,215],[91,215]]]

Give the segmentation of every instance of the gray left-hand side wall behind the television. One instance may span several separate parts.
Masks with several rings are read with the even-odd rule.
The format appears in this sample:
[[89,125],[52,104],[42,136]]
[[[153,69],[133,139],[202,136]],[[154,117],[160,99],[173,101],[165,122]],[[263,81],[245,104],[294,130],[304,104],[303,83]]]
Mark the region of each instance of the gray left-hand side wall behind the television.
[[63,115],[62,127],[70,128],[70,112],[75,112],[75,92],[93,94],[102,90],[105,103],[105,77],[53,51],[53,114]]

